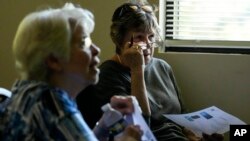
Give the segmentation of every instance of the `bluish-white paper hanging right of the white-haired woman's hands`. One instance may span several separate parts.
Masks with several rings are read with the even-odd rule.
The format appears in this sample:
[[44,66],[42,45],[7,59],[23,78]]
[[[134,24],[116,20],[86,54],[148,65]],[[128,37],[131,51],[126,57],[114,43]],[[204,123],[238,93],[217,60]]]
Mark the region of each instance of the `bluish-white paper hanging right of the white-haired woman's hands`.
[[138,101],[133,97],[134,113],[132,115],[126,116],[125,119],[129,124],[139,125],[141,130],[143,130],[142,141],[157,141],[154,134],[148,127],[146,121],[142,117],[142,111],[138,104]]

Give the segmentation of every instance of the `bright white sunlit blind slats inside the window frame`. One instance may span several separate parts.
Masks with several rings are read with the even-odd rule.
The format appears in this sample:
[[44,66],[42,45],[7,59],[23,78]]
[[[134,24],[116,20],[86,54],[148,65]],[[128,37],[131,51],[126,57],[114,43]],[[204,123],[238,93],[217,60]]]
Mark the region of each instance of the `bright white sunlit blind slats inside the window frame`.
[[[167,0],[166,37],[250,41],[250,0]],[[172,7],[169,8],[168,7]]]

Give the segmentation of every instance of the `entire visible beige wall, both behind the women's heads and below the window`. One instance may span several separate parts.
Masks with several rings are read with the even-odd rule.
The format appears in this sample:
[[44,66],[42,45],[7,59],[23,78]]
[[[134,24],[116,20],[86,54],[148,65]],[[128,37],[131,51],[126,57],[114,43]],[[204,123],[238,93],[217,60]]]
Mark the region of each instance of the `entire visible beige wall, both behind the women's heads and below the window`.
[[[101,59],[113,54],[109,25],[115,7],[125,0],[75,0],[96,17],[94,42],[101,47]],[[153,1],[153,0],[152,0]],[[157,3],[157,0],[153,2]],[[0,86],[10,88],[17,78],[11,42],[20,20],[37,8],[58,6],[63,0],[0,1]],[[186,105],[198,110],[215,105],[250,123],[250,56],[167,53],[156,56],[172,65]]]

